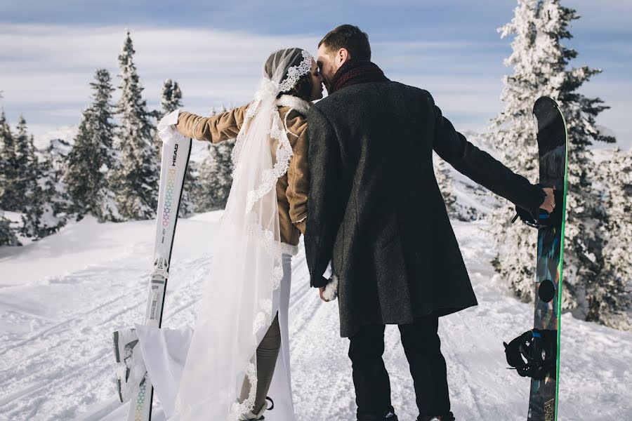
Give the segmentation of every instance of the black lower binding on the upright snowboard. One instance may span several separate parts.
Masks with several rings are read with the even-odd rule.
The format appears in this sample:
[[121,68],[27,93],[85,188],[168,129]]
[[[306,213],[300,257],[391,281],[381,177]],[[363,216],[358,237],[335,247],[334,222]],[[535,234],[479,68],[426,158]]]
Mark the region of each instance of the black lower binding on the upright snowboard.
[[542,380],[555,368],[558,357],[557,330],[534,328],[508,344],[503,342],[503,345],[510,369],[516,370],[522,377]]

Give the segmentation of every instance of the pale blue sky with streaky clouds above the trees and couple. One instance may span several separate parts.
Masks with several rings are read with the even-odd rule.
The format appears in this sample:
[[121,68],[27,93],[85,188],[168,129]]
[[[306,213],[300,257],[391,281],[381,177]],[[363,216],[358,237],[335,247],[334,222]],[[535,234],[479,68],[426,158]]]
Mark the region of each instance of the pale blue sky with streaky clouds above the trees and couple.
[[[562,1],[576,8],[579,51],[572,65],[604,69],[582,88],[609,109],[598,123],[630,147],[632,4]],[[482,131],[502,109],[499,94],[511,39],[496,28],[511,20],[512,0],[431,1],[2,1],[0,90],[8,119],[24,114],[36,135],[79,123],[88,83],[105,67],[118,83],[117,55],[130,29],[144,95],[159,106],[164,79],[180,83],[185,108],[247,102],[261,62],[276,48],[317,41],[341,23],[369,33],[374,61],[390,79],[428,89],[459,130]]]

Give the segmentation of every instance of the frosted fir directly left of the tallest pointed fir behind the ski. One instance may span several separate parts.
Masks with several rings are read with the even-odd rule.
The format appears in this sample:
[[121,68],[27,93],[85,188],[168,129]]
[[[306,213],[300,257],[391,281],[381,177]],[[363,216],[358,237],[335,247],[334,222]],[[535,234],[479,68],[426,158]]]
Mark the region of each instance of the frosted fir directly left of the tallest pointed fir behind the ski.
[[78,218],[94,215],[100,221],[120,220],[112,172],[118,160],[114,152],[112,79],[106,69],[95,72],[92,104],[84,110],[79,132],[67,156],[64,181]]

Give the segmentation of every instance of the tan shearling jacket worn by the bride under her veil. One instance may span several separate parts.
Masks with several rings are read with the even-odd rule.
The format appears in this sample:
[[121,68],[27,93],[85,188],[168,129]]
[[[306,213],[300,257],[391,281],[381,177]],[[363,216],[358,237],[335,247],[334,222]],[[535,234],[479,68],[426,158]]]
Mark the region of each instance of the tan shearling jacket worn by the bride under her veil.
[[[292,147],[292,156],[287,173],[277,181],[279,206],[279,228],[281,241],[291,246],[298,245],[301,233],[305,234],[307,199],[310,187],[308,168],[308,141],[305,114],[308,102],[289,95],[277,100],[281,120],[287,123],[287,138]],[[178,114],[178,132],[188,138],[223,142],[237,138],[242,128],[248,105],[212,117],[202,117],[189,112]]]

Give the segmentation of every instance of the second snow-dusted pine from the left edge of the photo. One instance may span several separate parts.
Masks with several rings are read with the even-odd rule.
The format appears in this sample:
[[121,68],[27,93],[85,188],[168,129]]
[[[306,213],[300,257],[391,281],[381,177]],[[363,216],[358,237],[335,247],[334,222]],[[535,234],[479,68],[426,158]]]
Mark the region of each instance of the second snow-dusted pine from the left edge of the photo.
[[35,154],[33,136],[27,132],[24,117],[20,116],[15,137],[15,158],[20,170],[16,186],[22,192],[22,235],[41,239],[57,232],[66,223],[62,206],[63,197],[58,196],[48,161],[39,162]]

